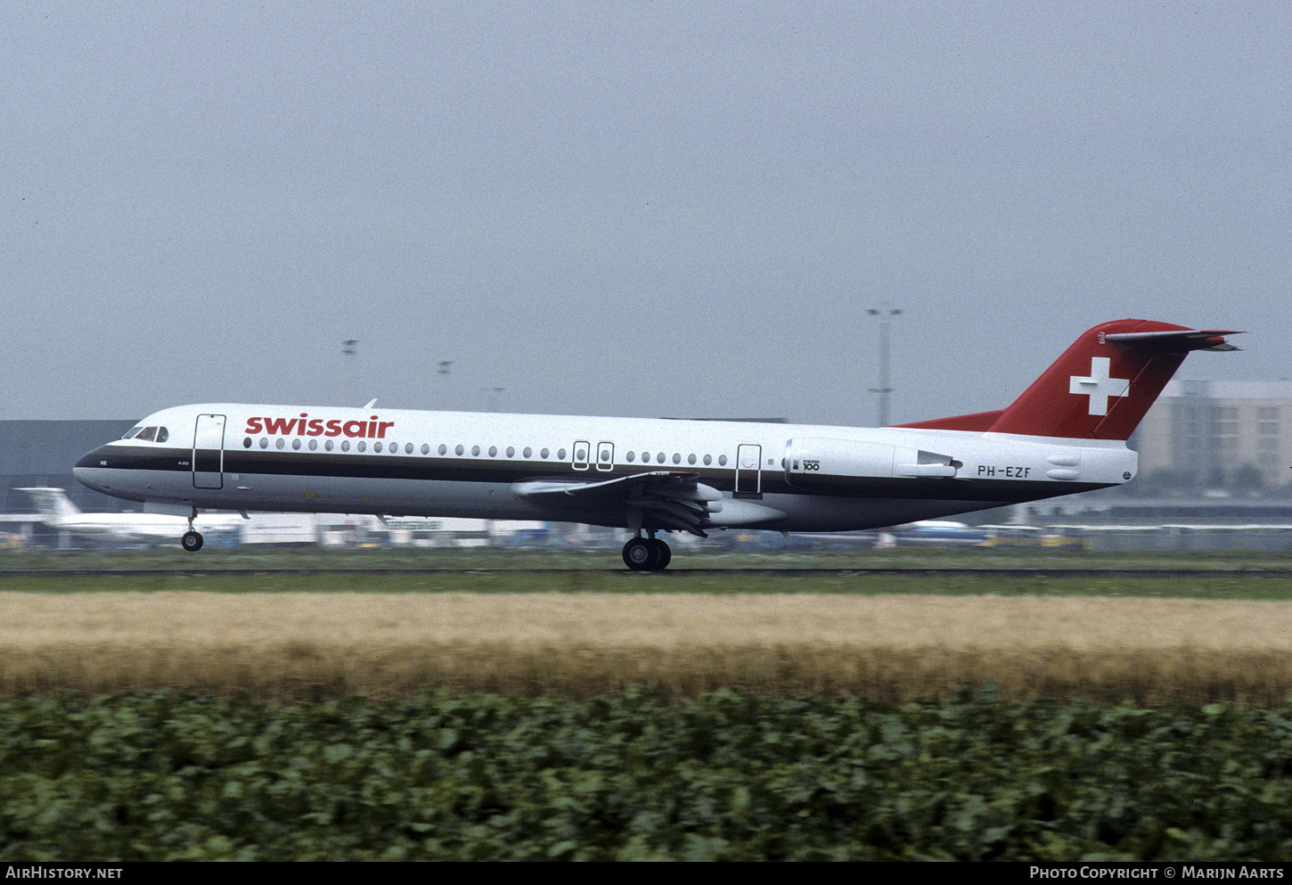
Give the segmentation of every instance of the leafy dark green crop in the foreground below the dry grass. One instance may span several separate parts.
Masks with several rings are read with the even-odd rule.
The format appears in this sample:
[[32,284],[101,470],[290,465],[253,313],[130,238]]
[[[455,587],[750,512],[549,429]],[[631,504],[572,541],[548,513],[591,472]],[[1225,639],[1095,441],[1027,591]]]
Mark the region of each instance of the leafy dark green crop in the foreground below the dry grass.
[[1292,708],[0,702],[0,860],[1288,860]]

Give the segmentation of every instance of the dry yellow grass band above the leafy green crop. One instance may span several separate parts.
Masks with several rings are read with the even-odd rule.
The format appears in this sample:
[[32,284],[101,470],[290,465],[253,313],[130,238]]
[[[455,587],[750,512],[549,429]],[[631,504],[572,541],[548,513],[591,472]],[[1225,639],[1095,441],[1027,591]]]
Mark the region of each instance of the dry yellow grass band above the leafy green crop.
[[571,698],[1006,698],[1279,704],[1292,603],[828,594],[0,594],[0,692],[226,698],[424,689]]

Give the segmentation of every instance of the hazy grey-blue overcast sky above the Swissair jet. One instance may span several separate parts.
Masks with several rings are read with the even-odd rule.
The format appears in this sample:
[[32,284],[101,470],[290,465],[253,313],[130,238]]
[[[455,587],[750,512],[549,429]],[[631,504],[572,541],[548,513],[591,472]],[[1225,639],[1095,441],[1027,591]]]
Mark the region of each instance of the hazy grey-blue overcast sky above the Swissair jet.
[[894,421],[1123,317],[1292,375],[1280,1],[32,1],[0,57],[0,420],[868,425],[884,305]]

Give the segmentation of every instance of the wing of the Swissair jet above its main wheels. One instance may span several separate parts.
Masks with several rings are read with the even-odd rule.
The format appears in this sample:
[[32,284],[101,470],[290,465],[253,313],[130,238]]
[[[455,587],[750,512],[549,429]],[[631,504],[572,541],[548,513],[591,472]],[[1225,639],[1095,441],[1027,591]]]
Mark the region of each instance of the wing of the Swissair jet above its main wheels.
[[651,470],[602,482],[525,479],[512,494],[541,506],[562,510],[628,510],[629,523],[689,531],[708,537],[702,528],[722,510],[722,492],[685,470]]

